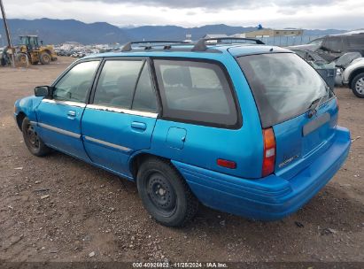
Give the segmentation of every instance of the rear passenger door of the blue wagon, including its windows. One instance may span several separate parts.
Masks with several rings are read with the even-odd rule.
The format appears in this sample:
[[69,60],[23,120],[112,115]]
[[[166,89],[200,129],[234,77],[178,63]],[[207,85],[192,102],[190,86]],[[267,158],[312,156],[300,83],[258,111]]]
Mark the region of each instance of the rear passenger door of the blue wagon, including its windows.
[[148,61],[106,59],[81,120],[89,158],[130,177],[128,158],[137,150],[150,148],[157,115]]

